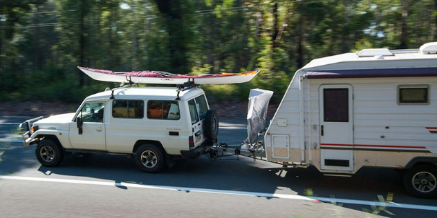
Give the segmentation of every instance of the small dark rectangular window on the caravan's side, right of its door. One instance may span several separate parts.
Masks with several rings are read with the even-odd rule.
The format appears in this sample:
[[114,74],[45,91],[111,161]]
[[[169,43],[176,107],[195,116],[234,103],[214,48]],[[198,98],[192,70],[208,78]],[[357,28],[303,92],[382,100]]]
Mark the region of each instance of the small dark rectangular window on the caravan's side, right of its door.
[[398,86],[398,104],[429,104],[429,85]]

